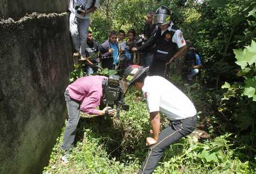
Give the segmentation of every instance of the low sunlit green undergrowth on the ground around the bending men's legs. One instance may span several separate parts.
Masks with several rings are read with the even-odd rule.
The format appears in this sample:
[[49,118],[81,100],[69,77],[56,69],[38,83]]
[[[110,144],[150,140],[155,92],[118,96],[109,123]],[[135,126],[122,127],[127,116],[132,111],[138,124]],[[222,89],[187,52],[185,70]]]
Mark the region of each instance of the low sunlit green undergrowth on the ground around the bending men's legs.
[[[135,93],[135,95],[134,95]],[[130,111],[120,120],[83,115],[70,163],[60,162],[62,136],[52,152],[44,173],[136,173],[147,154],[145,139],[150,130],[146,102],[130,91],[126,97]],[[168,121],[162,117],[162,129]],[[252,173],[249,162],[241,162],[228,140],[230,134],[199,140],[196,133],[182,138],[166,150],[155,173]]]

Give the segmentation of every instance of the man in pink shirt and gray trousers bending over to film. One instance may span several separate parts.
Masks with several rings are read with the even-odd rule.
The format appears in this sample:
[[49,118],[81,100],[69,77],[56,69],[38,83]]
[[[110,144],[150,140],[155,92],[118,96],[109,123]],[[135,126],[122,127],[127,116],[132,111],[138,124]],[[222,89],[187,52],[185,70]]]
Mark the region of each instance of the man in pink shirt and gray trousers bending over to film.
[[[103,116],[108,107],[103,110],[95,109],[103,99],[102,81],[104,76],[87,76],[78,78],[74,83],[68,85],[64,96],[68,109],[68,123],[65,127],[61,149],[68,151],[74,143],[76,127],[80,118],[80,111],[89,115]],[[108,110],[109,115],[114,115],[115,109]],[[67,164],[68,153],[61,157]]]

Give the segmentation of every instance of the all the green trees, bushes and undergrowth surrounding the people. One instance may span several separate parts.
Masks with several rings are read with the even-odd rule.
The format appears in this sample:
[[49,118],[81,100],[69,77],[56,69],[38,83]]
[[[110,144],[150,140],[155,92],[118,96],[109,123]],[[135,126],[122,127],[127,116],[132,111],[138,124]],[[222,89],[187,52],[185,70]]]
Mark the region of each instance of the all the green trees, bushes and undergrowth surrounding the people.
[[[91,23],[97,41],[107,39],[110,28],[134,28],[140,34],[147,12],[166,5],[204,63],[193,83],[182,74],[169,76],[194,102],[198,129],[166,150],[155,173],[255,173],[256,2],[209,0],[184,5],[179,0],[105,0],[100,4]],[[101,72],[108,73],[113,72]],[[81,77],[77,74],[75,78]],[[130,111],[122,112],[120,120],[83,116],[70,163],[60,163],[61,136],[44,172],[136,173],[147,154],[150,125],[140,93],[130,91],[126,102]],[[162,128],[167,125],[162,117]]]

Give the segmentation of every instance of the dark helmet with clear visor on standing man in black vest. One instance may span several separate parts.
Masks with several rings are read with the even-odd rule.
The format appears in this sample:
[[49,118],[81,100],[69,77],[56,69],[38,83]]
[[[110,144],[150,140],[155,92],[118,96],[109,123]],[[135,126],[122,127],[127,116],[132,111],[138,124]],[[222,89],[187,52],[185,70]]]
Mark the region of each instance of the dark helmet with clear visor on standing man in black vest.
[[153,17],[153,24],[156,25],[165,25],[170,23],[170,15],[172,12],[166,6],[160,6],[155,11],[155,15]]

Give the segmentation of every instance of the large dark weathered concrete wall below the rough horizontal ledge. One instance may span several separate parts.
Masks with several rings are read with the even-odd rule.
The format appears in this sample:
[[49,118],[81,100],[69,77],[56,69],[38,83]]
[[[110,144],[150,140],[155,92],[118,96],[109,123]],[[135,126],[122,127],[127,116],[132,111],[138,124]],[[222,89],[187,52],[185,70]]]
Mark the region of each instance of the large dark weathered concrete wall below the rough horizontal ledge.
[[0,173],[40,173],[67,111],[67,14],[0,22]]

